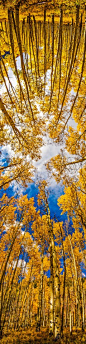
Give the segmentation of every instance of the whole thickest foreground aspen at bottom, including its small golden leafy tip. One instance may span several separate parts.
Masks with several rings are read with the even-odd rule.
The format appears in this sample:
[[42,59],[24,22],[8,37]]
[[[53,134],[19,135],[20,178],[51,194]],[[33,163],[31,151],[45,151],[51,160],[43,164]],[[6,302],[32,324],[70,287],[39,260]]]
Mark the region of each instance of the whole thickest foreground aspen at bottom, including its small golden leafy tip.
[[[55,243],[52,221],[50,217],[50,209],[48,205],[48,199],[46,194],[46,182],[43,181],[39,185],[39,195],[38,204],[43,204],[48,223],[48,233],[49,233],[49,247],[50,247],[50,324],[49,332],[53,334],[54,337],[59,337],[61,333],[61,320],[60,320],[60,285],[59,285],[59,270],[56,259]],[[55,320],[54,320],[54,295],[55,297]],[[54,323],[55,321],[55,323]]]

